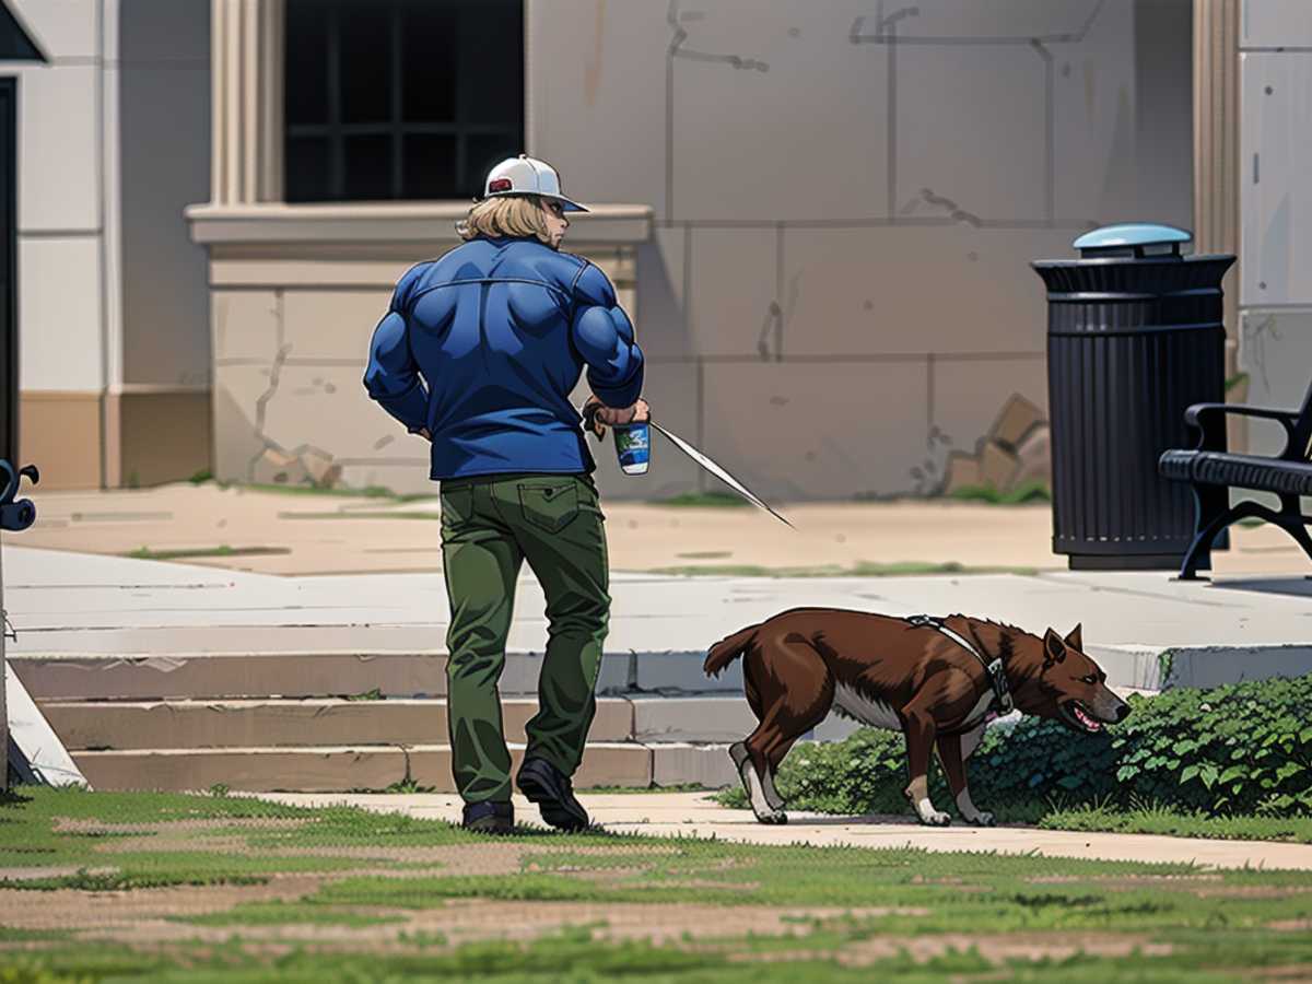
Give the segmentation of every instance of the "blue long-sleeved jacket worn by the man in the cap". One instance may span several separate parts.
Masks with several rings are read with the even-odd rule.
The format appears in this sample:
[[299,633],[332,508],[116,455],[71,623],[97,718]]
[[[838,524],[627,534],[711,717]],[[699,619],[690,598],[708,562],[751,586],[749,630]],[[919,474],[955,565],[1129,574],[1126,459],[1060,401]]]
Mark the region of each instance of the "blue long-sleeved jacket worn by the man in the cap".
[[569,403],[584,369],[602,403],[642,394],[643,353],[615,290],[535,239],[475,239],[412,268],[374,331],[365,388],[433,436],[433,479],[590,472]]

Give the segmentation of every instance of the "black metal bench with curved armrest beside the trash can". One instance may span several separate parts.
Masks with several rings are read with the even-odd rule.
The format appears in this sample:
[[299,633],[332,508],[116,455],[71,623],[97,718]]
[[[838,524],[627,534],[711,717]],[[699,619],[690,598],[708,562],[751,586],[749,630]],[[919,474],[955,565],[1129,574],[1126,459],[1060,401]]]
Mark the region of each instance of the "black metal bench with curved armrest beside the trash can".
[[[1284,450],[1270,458],[1256,454],[1232,454],[1225,450],[1225,415],[1274,420],[1284,426]],[[1249,407],[1241,403],[1195,403],[1185,412],[1190,433],[1198,436],[1193,450],[1169,450],[1157,462],[1162,478],[1189,482],[1194,488],[1194,542],[1181,564],[1182,580],[1197,576],[1198,568],[1211,567],[1211,548],[1216,535],[1239,520],[1256,517],[1274,522],[1288,533],[1303,552],[1312,558],[1312,537],[1299,496],[1312,496],[1312,462],[1308,441],[1312,438],[1312,386],[1299,409]],[[1281,500],[1281,509],[1245,500],[1231,505],[1229,489],[1271,492]]]

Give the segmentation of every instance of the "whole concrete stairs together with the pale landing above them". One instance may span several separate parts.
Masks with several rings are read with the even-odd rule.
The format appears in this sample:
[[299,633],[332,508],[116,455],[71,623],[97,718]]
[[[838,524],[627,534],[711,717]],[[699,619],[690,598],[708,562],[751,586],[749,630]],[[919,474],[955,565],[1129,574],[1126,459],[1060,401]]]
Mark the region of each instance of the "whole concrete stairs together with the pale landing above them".
[[[451,789],[441,575],[285,577],[13,546],[4,563],[10,666],[92,785]],[[963,611],[1033,632],[1082,623],[1114,687],[1152,691],[1312,672],[1309,593],[1303,579],[1162,573],[618,573],[598,677],[617,740],[598,731],[579,783],[733,782],[723,743],[754,726],[741,661],[711,680],[705,652],[794,606]],[[535,712],[543,607],[521,581],[500,680],[521,716]],[[851,728],[830,716],[813,736]]]

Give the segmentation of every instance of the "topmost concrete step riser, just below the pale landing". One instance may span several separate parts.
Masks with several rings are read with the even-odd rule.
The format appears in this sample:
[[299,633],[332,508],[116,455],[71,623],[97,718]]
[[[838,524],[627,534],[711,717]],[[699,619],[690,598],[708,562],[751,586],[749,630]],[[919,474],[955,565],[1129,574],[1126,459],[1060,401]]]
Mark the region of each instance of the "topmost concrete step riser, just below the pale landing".
[[[720,693],[743,695],[741,664],[720,677],[702,673],[701,652],[606,653],[598,694]],[[160,701],[223,698],[445,697],[446,656],[412,652],[268,652],[122,656],[8,653],[35,701]],[[510,652],[504,695],[537,694],[541,652]]]

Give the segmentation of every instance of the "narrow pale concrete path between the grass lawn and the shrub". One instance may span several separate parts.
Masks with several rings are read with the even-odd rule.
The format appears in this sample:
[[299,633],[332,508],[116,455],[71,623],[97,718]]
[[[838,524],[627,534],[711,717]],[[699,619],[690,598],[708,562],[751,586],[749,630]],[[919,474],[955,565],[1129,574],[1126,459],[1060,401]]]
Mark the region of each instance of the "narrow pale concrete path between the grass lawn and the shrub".
[[[348,803],[383,813],[459,823],[461,799],[451,795],[260,794],[294,806]],[[1269,841],[1215,841],[1156,834],[1039,830],[1033,827],[921,827],[888,819],[848,819],[789,813],[786,827],[756,823],[749,810],[727,810],[705,792],[580,794],[593,820],[611,833],[656,837],[715,837],[744,844],[922,848],[934,851],[997,851],[1057,858],[1097,858],[1206,867],[1312,870],[1312,845]],[[516,798],[516,819],[538,825],[537,807]]]

